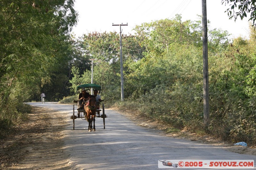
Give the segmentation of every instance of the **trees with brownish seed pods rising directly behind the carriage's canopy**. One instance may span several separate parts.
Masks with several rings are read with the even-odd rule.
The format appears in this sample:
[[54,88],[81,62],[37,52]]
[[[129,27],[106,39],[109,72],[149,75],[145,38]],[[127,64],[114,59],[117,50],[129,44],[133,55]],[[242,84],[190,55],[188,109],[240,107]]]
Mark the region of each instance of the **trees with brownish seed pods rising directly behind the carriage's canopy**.
[[[122,35],[124,72],[127,72],[131,62],[134,63],[143,56],[143,48],[140,47],[137,38],[133,35]],[[73,91],[76,91],[76,86],[91,82],[91,66],[88,63],[91,62],[90,59],[94,59],[93,83],[101,85],[101,97],[108,102],[119,100],[121,94],[119,34],[116,32],[85,34],[83,41],[80,41],[80,47],[84,51],[81,58],[89,67],[80,71],[79,66],[73,65],[74,77],[70,80]]]

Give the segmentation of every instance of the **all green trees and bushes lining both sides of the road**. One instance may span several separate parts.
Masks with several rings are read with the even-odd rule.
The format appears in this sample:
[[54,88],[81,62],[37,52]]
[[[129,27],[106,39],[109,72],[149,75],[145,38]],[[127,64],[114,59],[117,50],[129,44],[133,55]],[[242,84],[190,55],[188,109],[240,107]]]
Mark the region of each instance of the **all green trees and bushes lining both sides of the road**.
[[[7,27],[15,25],[15,15],[35,20],[22,22],[29,27],[27,31],[34,31],[32,38],[26,31],[12,34],[13,37],[2,36],[5,43],[0,45],[4,54],[0,69],[0,121],[6,125],[2,129],[18,119],[17,108],[12,107],[14,101],[39,101],[44,92],[46,101],[73,103],[76,86],[91,82],[90,59],[95,59],[93,83],[102,86],[100,95],[108,107],[128,109],[170,129],[256,145],[254,28],[249,39],[230,39],[227,31],[211,28],[208,23],[211,122],[206,127],[203,123],[200,16],[197,21],[183,21],[181,15],[176,15],[172,19],[143,23],[134,28],[135,35],[122,35],[125,101],[121,102],[119,34],[95,31],[79,39],[72,38],[69,33],[76,23],[76,12],[72,8],[73,1],[68,2],[69,6],[42,4],[37,8],[33,4],[19,4],[27,10],[40,12],[38,16],[15,13],[12,19],[9,14],[1,16],[8,21],[6,27],[0,29],[3,35],[18,29],[18,25]],[[2,11],[18,8],[15,3],[10,9],[7,2],[1,4]],[[70,12],[62,11],[64,9],[58,5]],[[50,7],[55,12],[49,10]],[[42,29],[36,31],[32,26],[37,26],[38,19],[42,19],[39,25]],[[44,30],[46,24],[49,29]]]

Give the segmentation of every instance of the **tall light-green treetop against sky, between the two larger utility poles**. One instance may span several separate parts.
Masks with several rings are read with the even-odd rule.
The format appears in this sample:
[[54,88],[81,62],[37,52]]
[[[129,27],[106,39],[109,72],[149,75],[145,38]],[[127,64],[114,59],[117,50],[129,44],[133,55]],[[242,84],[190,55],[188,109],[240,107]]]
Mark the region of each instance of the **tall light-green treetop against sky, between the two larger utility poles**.
[[201,44],[202,26],[190,20],[181,21],[181,15],[173,19],[161,19],[135,27],[145,55],[156,57],[168,53],[174,43]]

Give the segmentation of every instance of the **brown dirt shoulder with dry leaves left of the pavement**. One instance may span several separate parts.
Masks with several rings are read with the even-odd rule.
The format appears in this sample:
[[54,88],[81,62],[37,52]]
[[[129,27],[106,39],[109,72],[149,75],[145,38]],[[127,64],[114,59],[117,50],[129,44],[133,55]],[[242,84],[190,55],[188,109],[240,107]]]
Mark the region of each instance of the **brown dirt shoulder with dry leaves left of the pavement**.
[[62,134],[67,122],[62,115],[34,107],[28,122],[0,141],[0,169],[69,169]]

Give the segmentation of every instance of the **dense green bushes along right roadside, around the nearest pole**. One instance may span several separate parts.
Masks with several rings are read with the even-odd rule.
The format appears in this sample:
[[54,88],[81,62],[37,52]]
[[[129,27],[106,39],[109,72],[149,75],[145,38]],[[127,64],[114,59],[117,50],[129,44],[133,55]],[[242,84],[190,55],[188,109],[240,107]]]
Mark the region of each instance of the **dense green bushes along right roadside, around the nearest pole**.
[[[145,114],[172,127],[201,134],[208,133],[234,143],[244,141],[255,145],[255,93],[254,90],[248,91],[255,88],[255,79],[252,76],[255,57],[246,54],[248,49],[245,46],[239,46],[239,52],[237,48],[227,47],[227,51],[223,51],[220,55],[209,55],[210,125],[208,127],[203,123],[203,85],[199,57],[195,53],[191,53],[188,57],[186,48],[182,49],[184,56],[180,53],[178,56],[173,53],[167,55],[172,62],[169,62],[170,66],[161,72],[160,78],[172,76],[170,78],[172,81],[165,84],[162,82],[145,95],[140,95],[137,103],[140,103],[142,109],[138,108],[138,110],[142,115]],[[228,53],[231,56],[227,56]],[[184,60],[181,61],[180,58]],[[154,70],[154,67],[150,69]],[[171,70],[173,75],[168,75],[170,72],[168,70]],[[140,71],[137,74],[140,74]],[[134,84],[137,85],[136,82]]]

